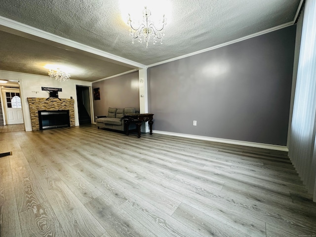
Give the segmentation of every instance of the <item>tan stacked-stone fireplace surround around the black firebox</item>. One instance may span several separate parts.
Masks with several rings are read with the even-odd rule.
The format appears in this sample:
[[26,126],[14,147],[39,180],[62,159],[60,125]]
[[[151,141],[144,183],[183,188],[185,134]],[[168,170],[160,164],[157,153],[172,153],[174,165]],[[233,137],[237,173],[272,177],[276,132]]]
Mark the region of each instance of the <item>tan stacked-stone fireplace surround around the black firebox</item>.
[[28,98],[32,130],[40,130],[39,111],[69,110],[70,126],[75,126],[74,99]]

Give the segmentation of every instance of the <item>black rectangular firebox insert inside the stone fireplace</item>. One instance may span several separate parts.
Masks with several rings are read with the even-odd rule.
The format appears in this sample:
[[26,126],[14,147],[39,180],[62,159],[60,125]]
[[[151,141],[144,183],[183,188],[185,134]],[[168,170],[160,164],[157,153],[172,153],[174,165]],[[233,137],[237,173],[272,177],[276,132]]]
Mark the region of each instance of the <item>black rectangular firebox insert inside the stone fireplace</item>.
[[40,130],[70,127],[69,110],[41,110],[39,111]]

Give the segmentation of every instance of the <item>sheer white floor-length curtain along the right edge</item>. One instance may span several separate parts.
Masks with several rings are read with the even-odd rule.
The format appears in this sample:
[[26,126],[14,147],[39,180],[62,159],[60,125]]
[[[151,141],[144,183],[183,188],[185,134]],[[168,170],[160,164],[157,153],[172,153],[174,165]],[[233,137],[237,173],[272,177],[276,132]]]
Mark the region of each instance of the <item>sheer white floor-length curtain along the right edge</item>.
[[289,158],[316,201],[316,0],[306,0]]

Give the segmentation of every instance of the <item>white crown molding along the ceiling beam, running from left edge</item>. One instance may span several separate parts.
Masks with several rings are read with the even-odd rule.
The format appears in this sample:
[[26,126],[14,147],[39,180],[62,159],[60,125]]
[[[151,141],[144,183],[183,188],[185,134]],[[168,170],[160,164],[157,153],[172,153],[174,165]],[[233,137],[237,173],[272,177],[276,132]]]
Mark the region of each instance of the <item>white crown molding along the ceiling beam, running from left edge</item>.
[[126,58],[119,57],[117,55],[102,51],[102,50],[97,49],[97,48],[93,48],[91,46],[76,42],[74,40],[69,40],[69,39],[66,39],[66,38],[45,32],[45,31],[42,31],[42,30],[37,29],[35,27],[29,26],[29,25],[26,25],[26,24],[23,24],[23,23],[20,23],[20,22],[17,22],[17,21],[14,21],[14,20],[2,17],[2,16],[0,16],[0,25],[17,30],[19,32],[30,34],[32,36],[40,37],[40,38],[45,39],[45,40],[50,40],[50,41],[53,41],[56,43],[67,45],[69,47],[73,47],[73,48],[83,50],[83,51],[86,51],[86,52],[89,52],[92,54],[96,54],[96,55],[114,60],[117,63],[119,62],[119,63],[125,64],[126,66],[132,66],[132,67],[137,67],[137,68],[145,68],[146,67],[143,64],[128,60]]

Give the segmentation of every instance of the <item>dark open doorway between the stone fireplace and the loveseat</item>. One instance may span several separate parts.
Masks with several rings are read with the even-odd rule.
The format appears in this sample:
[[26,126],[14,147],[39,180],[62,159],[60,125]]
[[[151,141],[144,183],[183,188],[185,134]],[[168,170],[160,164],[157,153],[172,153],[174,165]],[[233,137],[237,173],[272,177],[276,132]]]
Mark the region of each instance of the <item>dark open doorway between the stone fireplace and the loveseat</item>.
[[76,85],[79,124],[91,123],[89,86]]

